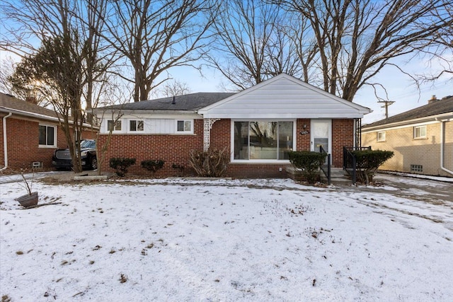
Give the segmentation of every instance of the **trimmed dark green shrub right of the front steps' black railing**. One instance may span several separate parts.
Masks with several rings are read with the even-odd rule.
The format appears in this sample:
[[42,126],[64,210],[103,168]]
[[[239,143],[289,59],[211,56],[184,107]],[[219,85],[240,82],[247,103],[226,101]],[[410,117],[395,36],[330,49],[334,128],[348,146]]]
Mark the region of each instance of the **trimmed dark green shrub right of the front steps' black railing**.
[[366,185],[372,180],[377,168],[394,156],[393,151],[357,150],[352,151],[357,165],[357,178]]

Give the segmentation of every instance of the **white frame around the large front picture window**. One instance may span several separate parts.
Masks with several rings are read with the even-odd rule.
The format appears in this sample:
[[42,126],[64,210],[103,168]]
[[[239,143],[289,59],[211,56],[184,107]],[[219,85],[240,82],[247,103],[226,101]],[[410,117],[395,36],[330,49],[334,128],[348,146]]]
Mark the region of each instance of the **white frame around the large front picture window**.
[[[297,151],[297,120],[293,119],[239,119],[231,120],[230,161],[231,163],[290,163],[288,159],[235,159],[234,158],[234,122],[292,122],[292,151]],[[249,142],[250,143],[250,142]]]

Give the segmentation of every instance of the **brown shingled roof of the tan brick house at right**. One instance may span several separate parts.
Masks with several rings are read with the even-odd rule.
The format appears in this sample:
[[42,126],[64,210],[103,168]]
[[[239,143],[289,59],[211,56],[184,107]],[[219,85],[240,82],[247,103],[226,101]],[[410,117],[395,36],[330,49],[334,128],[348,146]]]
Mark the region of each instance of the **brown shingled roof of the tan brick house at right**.
[[442,100],[435,100],[432,103],[423,105],[421,107],[409,110],[399,115],[394,115],[393,117],[386,118],[384,120],[379,120],[372,124],[367,124],[362,127],[362,129],[385,126],[389,124],[395,124],[399,122],[405,122],[408,120],[416,120],[423,117],[432,117],[435,115],[442,115],[445,113],[453,114],[453,96],[447,96],[442,98]]

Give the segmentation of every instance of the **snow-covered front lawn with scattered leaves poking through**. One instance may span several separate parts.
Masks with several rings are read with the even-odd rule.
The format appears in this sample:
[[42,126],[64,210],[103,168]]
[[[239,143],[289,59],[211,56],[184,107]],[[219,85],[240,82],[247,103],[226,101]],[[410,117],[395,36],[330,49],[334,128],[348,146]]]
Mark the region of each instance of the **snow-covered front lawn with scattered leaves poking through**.
[[[452,187],[410,181],[420,196]],[[0,184],[11,301],[453,301],[442,194],[292,180],[33,187],[49,205],[23,209],[21,182]]]

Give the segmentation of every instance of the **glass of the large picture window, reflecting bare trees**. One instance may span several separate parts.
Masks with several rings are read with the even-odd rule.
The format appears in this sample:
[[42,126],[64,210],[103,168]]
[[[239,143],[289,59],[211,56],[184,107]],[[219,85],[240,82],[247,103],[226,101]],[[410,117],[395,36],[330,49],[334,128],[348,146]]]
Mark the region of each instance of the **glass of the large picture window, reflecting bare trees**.
[[234,122],[234,159],[287,160],[294,122]]

